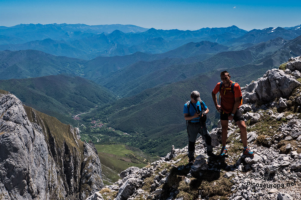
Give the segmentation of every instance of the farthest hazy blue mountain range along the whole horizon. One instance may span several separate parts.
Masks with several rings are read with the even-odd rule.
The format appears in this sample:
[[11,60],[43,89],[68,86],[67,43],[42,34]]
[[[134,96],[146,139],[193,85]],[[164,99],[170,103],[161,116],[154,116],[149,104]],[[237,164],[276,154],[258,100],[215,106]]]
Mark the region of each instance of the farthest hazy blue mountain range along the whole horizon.
[[20,24],[0,27],[0,50],[34,49],[88,60],[138,51],[163,53],[189,42],[210,41],[237,46],[266,42],[277,37],[291,40],[301,35],[299,27],[253,29],[248,32],[234,25],[182,31],[147,29],[134,25]]

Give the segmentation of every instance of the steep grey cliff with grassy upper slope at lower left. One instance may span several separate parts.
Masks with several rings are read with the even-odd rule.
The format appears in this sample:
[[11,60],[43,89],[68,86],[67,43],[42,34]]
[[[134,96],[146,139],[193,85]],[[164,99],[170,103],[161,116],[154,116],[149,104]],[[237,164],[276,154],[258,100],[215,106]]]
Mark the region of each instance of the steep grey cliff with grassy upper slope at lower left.
[[0,94],[0,197],[85,199],[99,190],[97,152],[79,138],[76,128]]

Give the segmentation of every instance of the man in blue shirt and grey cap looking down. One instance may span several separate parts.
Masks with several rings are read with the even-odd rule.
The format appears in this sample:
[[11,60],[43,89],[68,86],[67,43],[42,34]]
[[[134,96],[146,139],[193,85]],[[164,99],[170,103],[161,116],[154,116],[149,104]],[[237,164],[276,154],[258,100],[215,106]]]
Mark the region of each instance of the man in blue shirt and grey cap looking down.
[[[205,103],[200,99],[200,93],[198,91],[192,91],[190,94],[191,100],[184,104],[184,118],[187,125],[188,133],[188,165],[194,163],[194,151],[195,151],[195,141],[197,139],[197,134],[200,133],[205,142],[207,149],[207,155],[211,157],[216,157],[213,154],[213,147],[211,145],[211,137],[206,128],[206,114],[209,109]],[[199,111],[198,112],[198,108]],[[206,150],[205,150],[206,151]]]

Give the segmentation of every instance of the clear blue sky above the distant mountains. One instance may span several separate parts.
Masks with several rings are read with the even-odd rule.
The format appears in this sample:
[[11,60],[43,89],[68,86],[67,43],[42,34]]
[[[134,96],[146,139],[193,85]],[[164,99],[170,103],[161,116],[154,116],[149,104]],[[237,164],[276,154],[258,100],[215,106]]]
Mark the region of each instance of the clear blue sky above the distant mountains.
[[133,24],[180,30],[236,25],[251,30],[301,24],[301,4],[294,0],[0,0],[0,26],[20,23]]

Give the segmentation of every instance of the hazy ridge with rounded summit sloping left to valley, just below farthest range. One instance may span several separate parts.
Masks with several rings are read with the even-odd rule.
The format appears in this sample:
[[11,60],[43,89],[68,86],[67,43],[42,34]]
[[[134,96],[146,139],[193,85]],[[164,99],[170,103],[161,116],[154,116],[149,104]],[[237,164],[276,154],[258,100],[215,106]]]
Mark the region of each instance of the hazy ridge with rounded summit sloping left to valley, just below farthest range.
[[[113,56],[113,57],[97,57],[87,61],[84,66],[84,77],[97,81],[102,76],[112,76],[111,73],[122,69],[128,65],[132,65],[138,61],[155,61],[164,58],[188,58],[185,63],[197,62],[204,60],[205,58],[212,56],[217,52],[227,50],[228,47],[219,45],[217,43],[211,43],[208,41],[202,41],[199,43],[188,43],[177,49],[162,53],[162,54],[146,54],[142,52],[136,52],[131,55],[125,56]],[[207,54],[206,54],[207,53]],[[157,62],[158,63],[158,62]],[[173,61],[174,64],[179,64],[178,59]],[[170,62],[172,64],[172,62]],[[152,64],[147,64],[147,66]],[[160,66],[160,64],[158,64]],[[103,78],[101,78],[103,79]],[[99,80],[97,81],[99,82]],[[118,80],[114,82],[119,82]]]

